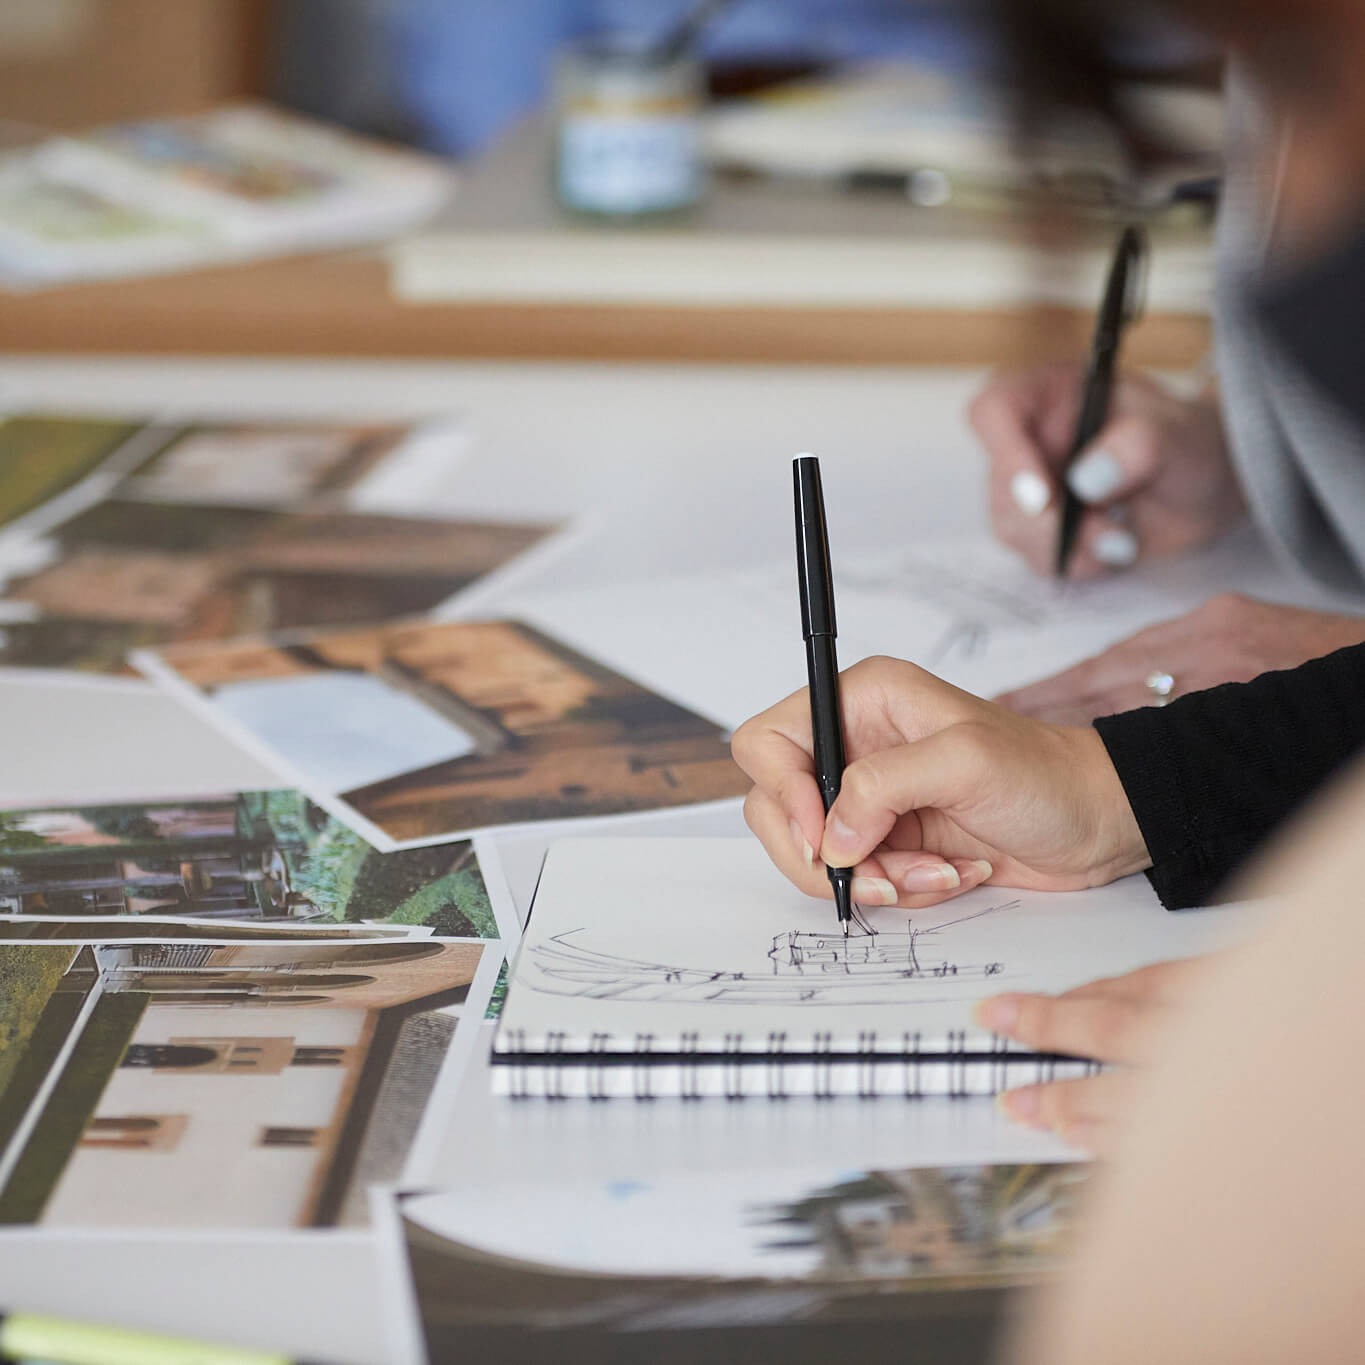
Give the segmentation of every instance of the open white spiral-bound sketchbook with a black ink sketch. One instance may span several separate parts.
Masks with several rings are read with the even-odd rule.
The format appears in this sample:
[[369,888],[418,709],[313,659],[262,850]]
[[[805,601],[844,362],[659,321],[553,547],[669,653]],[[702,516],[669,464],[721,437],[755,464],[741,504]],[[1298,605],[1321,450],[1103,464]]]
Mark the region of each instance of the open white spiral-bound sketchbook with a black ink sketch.
[[498,1091],[549,1099],[992,1095],[1084,1076],[984,1033],[972,1006],[1222,947],[1245,906],[1163,910],[1141,876],[979,887],[928,910],[834,908],[753,839],[556,844],[493,1051]]

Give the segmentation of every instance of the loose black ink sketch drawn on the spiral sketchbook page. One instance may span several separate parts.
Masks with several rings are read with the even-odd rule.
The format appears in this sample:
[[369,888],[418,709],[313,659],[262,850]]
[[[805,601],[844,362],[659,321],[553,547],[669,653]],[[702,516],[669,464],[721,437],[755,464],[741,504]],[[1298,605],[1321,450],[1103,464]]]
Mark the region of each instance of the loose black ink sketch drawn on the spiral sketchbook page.
[[[517,984],[542,995],[577,995],[595,1001],[700,1002],[717,1005],[902,1005],[945,998],[943,987],[1001,976],[998,961],[960,961],[951,954],[954,925],[1018,908],[1018,901],[991,905],[954,920],[905,932],[883,932],[859,917],[848,938],[789,930],[773,936],[767,968],[726,971],[676,966],[622,957],[587,946],[587,930],[556,934],[528,945],[517,966]],[[935,987],[938,990],[935,990]],[[949,990],[949,995],[957,995]]]

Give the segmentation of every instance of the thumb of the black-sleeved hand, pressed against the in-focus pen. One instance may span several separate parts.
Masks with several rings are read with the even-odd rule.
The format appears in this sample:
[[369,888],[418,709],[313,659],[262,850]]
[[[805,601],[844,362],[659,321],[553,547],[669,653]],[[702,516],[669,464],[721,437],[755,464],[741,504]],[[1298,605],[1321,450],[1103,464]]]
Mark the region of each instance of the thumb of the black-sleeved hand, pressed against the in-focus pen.
[[820,857],[830,867],[854,867],[902,815],[971,801],[995,768],[991,748],[988,729],[965,721],[850,763],[824,822]]

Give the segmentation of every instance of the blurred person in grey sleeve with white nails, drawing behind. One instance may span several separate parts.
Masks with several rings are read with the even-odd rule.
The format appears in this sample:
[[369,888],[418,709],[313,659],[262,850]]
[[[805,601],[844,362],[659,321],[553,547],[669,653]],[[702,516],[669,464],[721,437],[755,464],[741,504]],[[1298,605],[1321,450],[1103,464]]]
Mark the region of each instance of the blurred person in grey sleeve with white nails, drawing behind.
[[[1365,440],[1250,304],[1305,231],[1287,199],[1305,150],[1297,142],[1301,116],[1276,108],[1264,70],[1234,51],[1227,119],[1218,381],[1193,399],[1143,374],[1121,381],[1107,426],[1066,475],[1088,506],[1072,575],[1099,577],[1193,550],[1250,516],[1295,571],[1365,595]],[[990,457],[995,531],[1039,573],[1050,572],[1055,553],[1059,464],[1080,385],[1080,364],[1001,374],[971,408]],[[1087,721],[1149,702],[1145,678],[1158,666],[1177,691],[1192,692],[1361,640],[1365,618],[1224,594],[999,700],[1029,715]]]

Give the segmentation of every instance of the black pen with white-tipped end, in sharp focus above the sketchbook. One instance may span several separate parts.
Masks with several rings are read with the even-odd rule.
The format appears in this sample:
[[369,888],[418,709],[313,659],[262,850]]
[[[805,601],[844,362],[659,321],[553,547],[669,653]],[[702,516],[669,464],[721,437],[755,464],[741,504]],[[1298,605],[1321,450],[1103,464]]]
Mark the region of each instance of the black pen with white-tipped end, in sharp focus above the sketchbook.
[[[824,524],[820,461],[814,455],[799,455],[792,461],[792,478],[796,490],[796,577],[801,590],[801,633],[805,636],[805,672],[811,684],[815,781],[829,811],[844,781],[844,719],[839,661],[834,651],[834,576],[830,572],[830,532]],[[853,917],[853,870],[831,867],[829,874],[839,924],[848,935]]]

